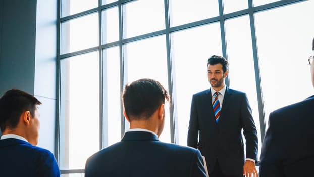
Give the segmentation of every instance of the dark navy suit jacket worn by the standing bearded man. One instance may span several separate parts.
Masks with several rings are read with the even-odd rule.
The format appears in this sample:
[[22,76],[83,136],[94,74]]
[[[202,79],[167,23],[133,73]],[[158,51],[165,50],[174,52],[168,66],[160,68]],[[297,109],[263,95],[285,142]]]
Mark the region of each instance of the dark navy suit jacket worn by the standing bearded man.
[[207,89],[193,95],[187,145],[198,148],[205,156],[210,175],[217,160],[226,175],[243,174],[242,129],[246,158],[257,160],[257,131],[246,94],[226,88],[218,123],[214,117],[211,91]]

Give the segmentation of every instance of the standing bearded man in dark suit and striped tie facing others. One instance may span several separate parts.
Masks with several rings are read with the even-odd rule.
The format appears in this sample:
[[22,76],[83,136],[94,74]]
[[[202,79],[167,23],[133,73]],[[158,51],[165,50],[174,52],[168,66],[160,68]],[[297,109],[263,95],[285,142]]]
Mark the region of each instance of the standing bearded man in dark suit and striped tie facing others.
[[212,87],[193,95],[187,145],[198,148],[205,156],[211,177],[257,176],[258,140],[251,108],[245,93],[225,85],[227,69],[224,57],[213,55],[208,59],[208,81]]

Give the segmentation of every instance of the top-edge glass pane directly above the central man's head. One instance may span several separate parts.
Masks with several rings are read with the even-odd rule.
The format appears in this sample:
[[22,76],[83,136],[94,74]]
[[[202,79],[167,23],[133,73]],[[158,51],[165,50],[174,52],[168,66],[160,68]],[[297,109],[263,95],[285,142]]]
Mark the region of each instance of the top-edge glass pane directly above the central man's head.
[[132,1],[123,5],[123,14],[124,38],[165,29],[164,1]]

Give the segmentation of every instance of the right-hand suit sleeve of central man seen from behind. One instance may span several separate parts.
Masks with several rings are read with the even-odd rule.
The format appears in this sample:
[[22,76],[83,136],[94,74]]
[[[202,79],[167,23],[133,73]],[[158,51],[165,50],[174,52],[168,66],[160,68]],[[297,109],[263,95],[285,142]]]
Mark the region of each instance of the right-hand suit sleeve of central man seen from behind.
[[203,158],[199,152],[196,150],[193,154],[191,168],[189,176],[193,177],[206,177],[206,171],[204,167]]

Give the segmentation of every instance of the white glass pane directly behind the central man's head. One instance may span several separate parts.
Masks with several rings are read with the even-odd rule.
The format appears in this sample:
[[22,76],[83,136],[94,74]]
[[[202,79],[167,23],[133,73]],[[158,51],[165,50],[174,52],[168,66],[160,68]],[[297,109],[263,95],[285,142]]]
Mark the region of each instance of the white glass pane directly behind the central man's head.
[[[164,35],[128,43],[125,45],[125,59],[127,82],[141,78],[151,78],[158,80],[165,89],[169,90],[166,37]],[[160,140],[171,142],[169,109],[165,110],[166,122]]]

